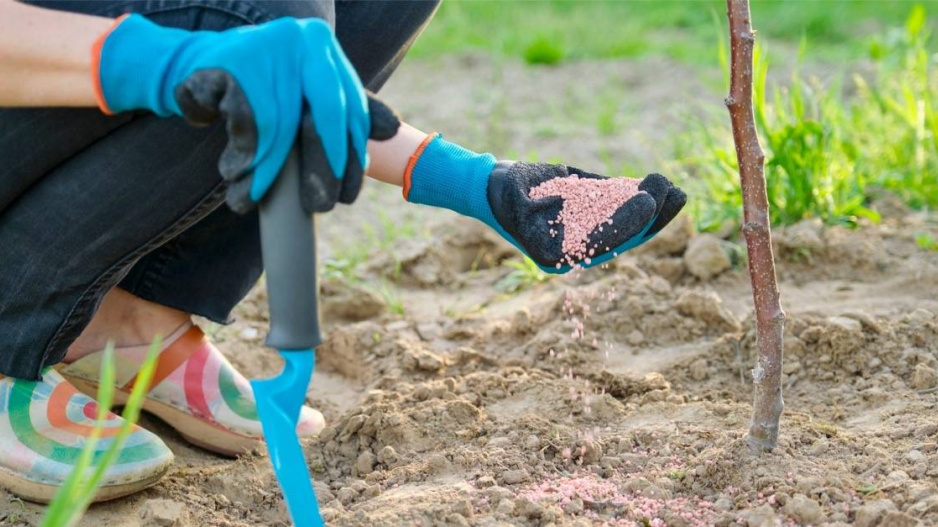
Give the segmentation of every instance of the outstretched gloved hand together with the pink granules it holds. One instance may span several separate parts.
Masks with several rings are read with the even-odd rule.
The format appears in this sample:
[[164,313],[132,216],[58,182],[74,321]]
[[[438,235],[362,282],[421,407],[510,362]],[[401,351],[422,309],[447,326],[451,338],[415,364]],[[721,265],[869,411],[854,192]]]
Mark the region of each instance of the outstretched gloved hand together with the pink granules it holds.
[[476,218],[544,271],[592,267],[650,240],[686,202],[659,174],[608,178],[544,163],[496,161],[428,136],[404,197]]

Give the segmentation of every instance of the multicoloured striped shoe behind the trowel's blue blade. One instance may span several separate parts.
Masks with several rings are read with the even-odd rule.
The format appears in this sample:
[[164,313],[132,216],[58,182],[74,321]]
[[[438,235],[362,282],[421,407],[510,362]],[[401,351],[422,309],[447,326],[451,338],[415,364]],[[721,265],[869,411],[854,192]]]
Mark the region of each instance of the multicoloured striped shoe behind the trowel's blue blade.
[[[120,404],[130,394],[146,346],[114,350]],[[59,371],[79,390],[97,393],[102,352]],[[190,443],[225,456],[251,451],[263,441],[251,385],[197,326],[186,324],[165,340],[143,409],[175,428]],[[311,437],[325,427],[322,414],[303,407],[297,433]]]

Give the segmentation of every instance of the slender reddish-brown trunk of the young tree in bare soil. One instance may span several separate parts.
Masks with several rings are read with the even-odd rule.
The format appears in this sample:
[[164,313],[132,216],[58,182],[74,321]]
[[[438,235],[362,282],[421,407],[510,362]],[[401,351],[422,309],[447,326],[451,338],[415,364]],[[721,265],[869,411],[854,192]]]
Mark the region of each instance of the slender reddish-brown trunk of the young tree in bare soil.
[[782,402],[782,338],[785,312],[779,300],[765,193],[765,154],[752,111],[752,55],[755,32],[749,0],[726,0],[730,21],[730,95],[726,107],[733,125],[743,193],[743,233],[749,250],[749,277],[756,309],[758,359],[752,370],[755,402],[746,441],[756,452],[775,448]]

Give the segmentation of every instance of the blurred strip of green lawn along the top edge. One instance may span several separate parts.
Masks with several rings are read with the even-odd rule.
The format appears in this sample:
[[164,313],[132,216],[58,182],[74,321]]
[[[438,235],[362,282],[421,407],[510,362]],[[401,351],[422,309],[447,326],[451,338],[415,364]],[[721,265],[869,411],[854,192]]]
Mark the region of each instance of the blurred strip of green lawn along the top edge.
[[[899,25],[913,2],[752,2],[761,39],[782,50],[802,36],[817,58],[865,56],[869,35]],[[713,19],[723,0],[447,0],[414,46],[415,57],[479,51],[530,63],[663,55],[714,64]]]

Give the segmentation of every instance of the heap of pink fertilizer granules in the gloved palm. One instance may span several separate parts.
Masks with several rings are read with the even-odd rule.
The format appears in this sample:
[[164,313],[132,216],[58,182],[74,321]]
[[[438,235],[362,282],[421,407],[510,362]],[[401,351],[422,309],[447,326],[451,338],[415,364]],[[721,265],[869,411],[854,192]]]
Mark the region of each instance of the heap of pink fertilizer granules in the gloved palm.
[[[563,225],[562,248],[567,263],[572,265],[585,261],[589,264],[596,249],[586,247],[589,235],[596,229],[602,230],[604,225],[612,225],[613,214],[640,192],[640,183],[640,180],[631,178],[592,179],[571,174],[541,183],[532,188],[528,196],[531,199],[563,198],[560,215],[548,223]],[[556,232],[556,229],[551,229],[552,236]],[[560,267],[559,263],[557,267]]]

